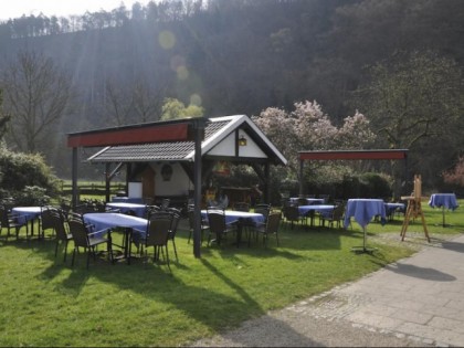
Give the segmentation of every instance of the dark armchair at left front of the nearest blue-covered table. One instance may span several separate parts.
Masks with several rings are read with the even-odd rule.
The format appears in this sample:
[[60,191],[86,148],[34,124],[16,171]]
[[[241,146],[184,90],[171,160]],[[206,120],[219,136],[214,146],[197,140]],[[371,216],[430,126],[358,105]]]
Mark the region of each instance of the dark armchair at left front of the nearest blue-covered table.
[[67,224],[74,241],[73,260],[71,262],[72,266],[74,266],[75,253],[78,252],[80,247],[84,247],[87,254],[88,270],[91,254],[94,256],[94,260],[96,260],[97,246],[101,244],[106,244],[106,252],[108,253],[108,257],[112,263],[114,262],[112,234],[109,230],[91,232],[88,225],[84,223],[82,215],[78,214],[70,214],[67,218]]

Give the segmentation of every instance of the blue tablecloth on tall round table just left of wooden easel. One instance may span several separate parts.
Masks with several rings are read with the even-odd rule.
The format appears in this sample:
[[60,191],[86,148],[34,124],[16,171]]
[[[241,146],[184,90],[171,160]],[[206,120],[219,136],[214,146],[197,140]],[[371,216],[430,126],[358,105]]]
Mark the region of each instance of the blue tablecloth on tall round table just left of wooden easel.
[[373,217],[380,217],[380,222],[386,223],[386,204],[381,199],[349,199],[345,213],[345,229],[348,228],[351,217],[365,229]]

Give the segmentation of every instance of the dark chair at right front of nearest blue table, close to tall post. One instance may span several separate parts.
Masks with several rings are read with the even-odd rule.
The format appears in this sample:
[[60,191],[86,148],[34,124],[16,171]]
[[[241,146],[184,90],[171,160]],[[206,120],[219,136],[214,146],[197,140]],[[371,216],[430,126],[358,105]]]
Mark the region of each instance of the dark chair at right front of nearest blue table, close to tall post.
[[148,259],[148,247],[154,247],[154,263],[159,261],[159,254],[165,257],[164,250],[166,250],[166,262],[169,271],[169,251],[168,251],[168,238],[169,231],[172,225],[172,214],[155,213],[150,217],[147,224],[147,232],[145,234],[144,246],[145,255]]

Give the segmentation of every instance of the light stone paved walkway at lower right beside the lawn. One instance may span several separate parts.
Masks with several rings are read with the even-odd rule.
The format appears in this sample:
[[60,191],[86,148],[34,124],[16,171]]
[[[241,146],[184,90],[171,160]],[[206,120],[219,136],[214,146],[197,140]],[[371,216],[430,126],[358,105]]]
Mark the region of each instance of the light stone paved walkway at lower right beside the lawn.
[[464,346],[464,235],[194,346]]

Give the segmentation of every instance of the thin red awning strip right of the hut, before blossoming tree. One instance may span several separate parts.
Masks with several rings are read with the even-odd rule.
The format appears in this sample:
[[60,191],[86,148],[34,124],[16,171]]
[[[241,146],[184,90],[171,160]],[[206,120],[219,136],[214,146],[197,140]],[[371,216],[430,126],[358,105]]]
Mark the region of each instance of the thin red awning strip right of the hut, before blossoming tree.
[[408,150],[300,151],[300,160],[404,159]]

